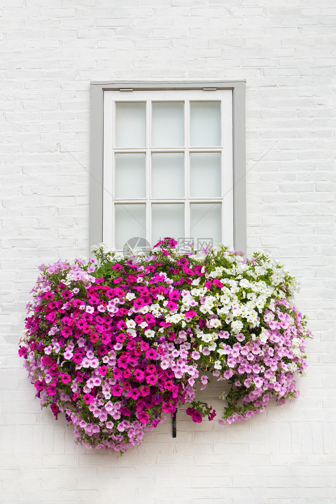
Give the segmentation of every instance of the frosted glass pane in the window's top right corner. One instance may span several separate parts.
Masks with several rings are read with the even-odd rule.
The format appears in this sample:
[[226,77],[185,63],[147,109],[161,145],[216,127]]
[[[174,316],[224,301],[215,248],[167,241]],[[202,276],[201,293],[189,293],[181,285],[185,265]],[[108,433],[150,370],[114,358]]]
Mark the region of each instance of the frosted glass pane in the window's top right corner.
[[190,102],[190,145],[221,145],[221,107],[219,101]]

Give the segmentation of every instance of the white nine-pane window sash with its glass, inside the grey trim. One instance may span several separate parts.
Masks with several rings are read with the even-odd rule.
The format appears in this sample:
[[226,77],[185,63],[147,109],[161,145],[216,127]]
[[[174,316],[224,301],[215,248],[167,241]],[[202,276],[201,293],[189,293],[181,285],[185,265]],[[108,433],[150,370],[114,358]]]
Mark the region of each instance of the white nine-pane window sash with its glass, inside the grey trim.
[[103,186],[109,246],[127,233],[233,245],[232,90],[104,91]]

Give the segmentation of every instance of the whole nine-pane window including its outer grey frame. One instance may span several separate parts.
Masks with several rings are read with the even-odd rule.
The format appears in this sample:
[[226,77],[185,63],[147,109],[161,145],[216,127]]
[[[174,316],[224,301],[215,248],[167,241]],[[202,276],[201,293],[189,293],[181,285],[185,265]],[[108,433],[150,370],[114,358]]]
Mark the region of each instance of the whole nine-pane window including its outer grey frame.
[[91,244],[245,249],[244,83],[92,84]]

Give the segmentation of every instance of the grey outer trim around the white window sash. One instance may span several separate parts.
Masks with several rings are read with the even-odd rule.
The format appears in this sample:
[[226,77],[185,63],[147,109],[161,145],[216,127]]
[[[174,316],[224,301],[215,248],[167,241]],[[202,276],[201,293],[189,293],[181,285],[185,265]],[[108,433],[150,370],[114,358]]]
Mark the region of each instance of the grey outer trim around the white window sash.
[[104,91],[122,90],[233,90],[233,232],[234,247],[246,252],[246,160],[245,160],[245,81],[163,82],[121,81],[91,83],[90,152],[90,247],[103,236],[103,106]]

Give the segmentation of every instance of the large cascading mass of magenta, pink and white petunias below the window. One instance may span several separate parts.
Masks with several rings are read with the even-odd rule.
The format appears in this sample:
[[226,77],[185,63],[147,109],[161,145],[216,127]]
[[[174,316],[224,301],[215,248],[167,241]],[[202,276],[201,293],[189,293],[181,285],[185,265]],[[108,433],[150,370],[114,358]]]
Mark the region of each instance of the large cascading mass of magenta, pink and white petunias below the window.
[[195,399],[209,374],[231,385],[219,423],[298,395],[311,333],[294,278],[261,253],[176,244],[122,259],[101,244],[97,259],[40,267],[19,354],[41,405],[87,447],[126,452],[184,404],[212,420]]

